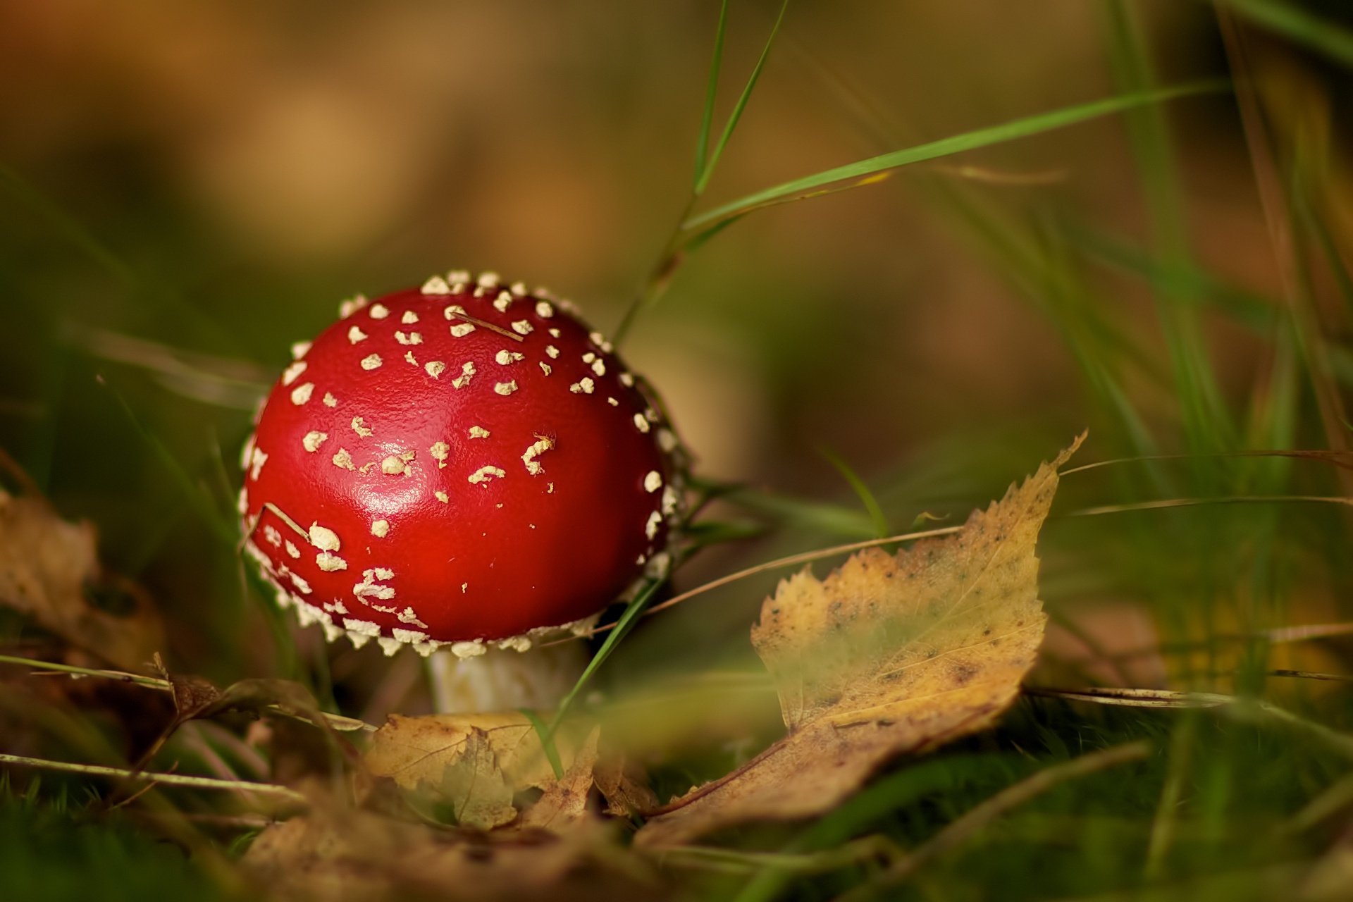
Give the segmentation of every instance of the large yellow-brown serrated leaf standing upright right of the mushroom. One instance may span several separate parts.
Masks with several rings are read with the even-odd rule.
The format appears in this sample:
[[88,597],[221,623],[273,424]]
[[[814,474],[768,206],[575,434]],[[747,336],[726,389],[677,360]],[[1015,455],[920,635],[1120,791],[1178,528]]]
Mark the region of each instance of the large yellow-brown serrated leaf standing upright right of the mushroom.
[[867,549],[825,580],[782,580],[752,644],[779,691],[789,734],[725,778],[659,809],[636,836],[674,845],[752,820],[824,811],[884,761],[989,726],[1019,694],[1043,638],[1039,529],[1051,464],[963,529],[896,557]]

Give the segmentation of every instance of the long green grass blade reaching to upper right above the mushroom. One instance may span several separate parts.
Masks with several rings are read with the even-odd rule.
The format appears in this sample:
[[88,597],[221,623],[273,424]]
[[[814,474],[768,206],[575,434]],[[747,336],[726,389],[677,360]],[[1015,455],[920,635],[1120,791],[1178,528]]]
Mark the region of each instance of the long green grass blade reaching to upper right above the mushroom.
[[892,153],[879,154],[877,157],[870,157],[869,160],[861,160],[858,162],[847,164],[844,166],[825,169],[812,176],[805,176],[802,179],[796,179],[793,181],[775,185],[773,188],[758,191],[756,193],[747,195],[746,197],[740,197],[737,200],[729,201],[706,212],[691,216],[683,223],[683,227],[686,230],[695,230],[700,229],[701,226],[708,226],[710,223],[718,222],[720,219],[727,219],[728,216],[732,215],[741,215],[750,207],[777,200],[779,197],[787,197],[790,195],[813,191],[816,188],[821,188],[838,181],[844,181],[847,179],[862,179],[865,176],[871,176],[874,173],[879,173],[886,169],[897,169],[900,166],[908,166],[916,162],[925,162],[928,160],[938,160],[940,157],[948,157],[951,154],[963,153],[965,150],[989,147],[992,145],[1004,143],[1007,141],[1016,141],[1019,138],[1027,138],[1030,135],[1042,134],[1045,131],[1065,128],[1066,126],[1073,126],[1081,122],[1088,122],[1091,119],[1097,119],[1100,116],[1122,112],[1124,110],[1130,110],[1132,107],[1139,107],[1143,104],[1164,103],[1180,97],[1192,97],[1207,93],[1220,93],[1229,89],[1230,89],[1230,82],[1226,81],[1215,81],[1215,80],[1201,81],[1196,84],[1180,85],[1176,88],[1164,88],[1161,91],[1153,91],[1146,93],[1126,95],[1120,97],[1107,97],[1104,100],[1095,100],[1092,103],[1085,103],[1076,107],[1066,107],[1063,110],[1055,110],[1053,112],[1045,112],[1035,116],[1027,116],[1024,119],[1016,119],[1015,122],[1008,122],[1000,126],[977,128],[974,131],[967,131],[959,135],[942,138],[939,141],[917,145],[915,147],[905,147],[902,150],[894,150]]

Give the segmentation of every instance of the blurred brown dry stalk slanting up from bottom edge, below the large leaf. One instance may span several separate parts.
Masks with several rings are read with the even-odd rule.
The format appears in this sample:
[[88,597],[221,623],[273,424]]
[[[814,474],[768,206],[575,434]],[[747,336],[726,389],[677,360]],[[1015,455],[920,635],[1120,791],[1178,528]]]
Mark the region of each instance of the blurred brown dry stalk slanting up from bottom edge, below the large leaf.
[[1104,749],[1103,752],[1091,752],[1063,764],[1042,769],[1015,786],[1001,790],[977,805],[977,807],[970,809],[874,879],[861,883],[855,888],[839,895],[836,902],[859,902],[861,899],[870,898],[881,888],[896,886],[915,874],[921,865],[973,838],[996,818],[1042,795],[1057,784],[1128,761],[1139,761],[1150,751],[1151,746],[1149,742],[1128,742],[1127,745]]

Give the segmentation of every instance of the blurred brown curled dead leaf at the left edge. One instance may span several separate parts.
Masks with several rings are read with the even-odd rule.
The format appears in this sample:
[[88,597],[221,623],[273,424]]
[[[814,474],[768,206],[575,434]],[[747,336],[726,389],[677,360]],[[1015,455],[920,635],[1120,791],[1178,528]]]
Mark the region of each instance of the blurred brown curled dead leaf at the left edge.
[[126,617],[89,603],[106,583],[93,525],[57,517],[39,498],[0,490],[0,606],[32,618],[70,645],[123,669],[139,669],[164,642],[164,627],[138,592]]

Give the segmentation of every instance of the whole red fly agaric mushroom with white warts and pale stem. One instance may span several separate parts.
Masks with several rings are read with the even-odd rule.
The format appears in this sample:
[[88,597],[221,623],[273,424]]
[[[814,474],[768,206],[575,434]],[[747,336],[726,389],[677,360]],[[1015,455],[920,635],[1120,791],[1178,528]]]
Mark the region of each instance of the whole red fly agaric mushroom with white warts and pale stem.
[[552,703],[524,669],[560,669],[556,649],[510,652],[670,561],[678,442],[644,387],[567,302],[494,273],[345,302],[292,356],[239,498],[279,603],[330,641],[436,652],[438,707]]

